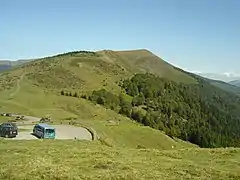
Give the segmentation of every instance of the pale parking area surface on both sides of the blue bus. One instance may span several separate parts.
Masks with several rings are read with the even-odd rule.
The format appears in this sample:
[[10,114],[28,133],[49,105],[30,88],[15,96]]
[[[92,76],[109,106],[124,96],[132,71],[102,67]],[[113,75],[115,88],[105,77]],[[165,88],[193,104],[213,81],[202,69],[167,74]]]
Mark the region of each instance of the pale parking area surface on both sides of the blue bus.
[[[32,122],[38,122],[40,118],[33,116],[25,116],[24,123],[18,125],[19,134],[16,138],[10,138],[9,140],[31,140],[37,139],[32,135],[34,124]],[[24,125],[26,124],[26,125]],[[30,124],[30,125],[29,125]],[[51,125],[55,127],[56,139],[80,139],[80,140],[92,140],[91,133],[82,127],[76,127],[71,125]]]

